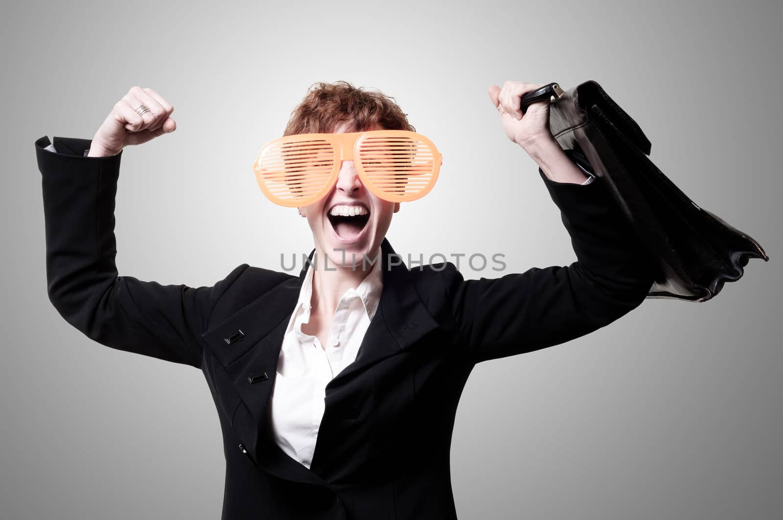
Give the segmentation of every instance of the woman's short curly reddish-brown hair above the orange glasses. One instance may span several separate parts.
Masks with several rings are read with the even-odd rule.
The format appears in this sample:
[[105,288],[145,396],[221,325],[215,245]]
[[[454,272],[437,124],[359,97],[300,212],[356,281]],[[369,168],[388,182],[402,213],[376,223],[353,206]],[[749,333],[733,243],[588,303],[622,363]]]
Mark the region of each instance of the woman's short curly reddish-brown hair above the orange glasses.
[[376,123],[387,130],[416,132],[395,99],[348,83],[319,81],[310,85],[305,99],[291,112],[283,135],[332,133],[343,121],[350,132],[362,132]]

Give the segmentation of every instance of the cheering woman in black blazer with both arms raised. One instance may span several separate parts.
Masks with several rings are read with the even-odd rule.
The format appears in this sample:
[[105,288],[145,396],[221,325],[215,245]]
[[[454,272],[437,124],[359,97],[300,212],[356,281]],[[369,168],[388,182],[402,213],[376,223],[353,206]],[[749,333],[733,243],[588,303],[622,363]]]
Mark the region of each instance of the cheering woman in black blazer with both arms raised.
[[[449,447],[474,365],[578,338],[644,300],[651,265],[601,178],[561,150],[547,103],[522,117],[539,86],[507,81],[489,98],[539,164],[578,261],[492,280],[450,262],[408,269],[385,239],[400,204],[367,190],[353,161],[298,208],[315,245],[299,276],[247,264],[213,287],[117,276],[121,152],[173,132],[171,104],[134,87],[92,140],[38,139],[49,298],[103,345],[204,372],[226,454],[222,518],[456,518]],[[311,89],[285,134],[381,128],[413,129],[388,97],[338,82]]]

